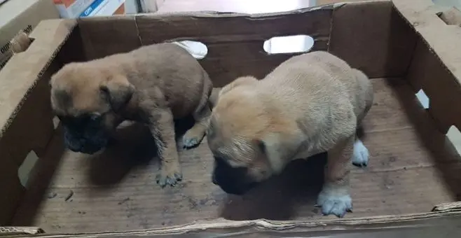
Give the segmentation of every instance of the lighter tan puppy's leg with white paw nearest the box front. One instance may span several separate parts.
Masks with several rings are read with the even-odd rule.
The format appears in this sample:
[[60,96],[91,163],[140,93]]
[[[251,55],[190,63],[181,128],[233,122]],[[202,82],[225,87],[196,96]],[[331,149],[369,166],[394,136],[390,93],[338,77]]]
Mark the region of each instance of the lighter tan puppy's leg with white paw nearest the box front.
[[354,141],[355,136],[352,136],[328,151],[324,186],[317,198],[324,215],[343,217],[347,211],[352,211],[349,177]]

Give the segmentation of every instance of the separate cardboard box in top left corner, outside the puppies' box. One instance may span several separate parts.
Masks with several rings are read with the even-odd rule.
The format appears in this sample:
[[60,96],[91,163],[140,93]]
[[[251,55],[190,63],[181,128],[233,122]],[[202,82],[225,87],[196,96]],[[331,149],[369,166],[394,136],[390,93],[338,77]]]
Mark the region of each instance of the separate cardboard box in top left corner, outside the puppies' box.
[[29,34],[41,20],[59,18],[51,0],[9,0],[0,5],[0,69],[12,53],[10,41],[22,29]]

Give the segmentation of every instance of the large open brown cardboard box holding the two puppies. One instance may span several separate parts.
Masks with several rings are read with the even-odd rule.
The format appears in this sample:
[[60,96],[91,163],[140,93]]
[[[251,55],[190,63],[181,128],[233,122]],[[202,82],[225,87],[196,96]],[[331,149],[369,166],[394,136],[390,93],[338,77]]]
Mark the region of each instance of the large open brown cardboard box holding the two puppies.
[[[52,233],[43,237],[312,237],[396,228],[443,237],[449,229],[427,229],[461,218],[461,158],[446,136],[461,127],[461,107],[453,106],[461,102],[461,29],[441,15],[429,0],[395,0],[259,15],[43,21],[30,35],[32,45],[0,71],[0,223]],[[121,131],[123,147],[90,156],[65,151],[62,130],[53,125],[48,80],[67,62],[200,41],[208,48],[200,63],[220,87],[238,76],[265,76],[296,53],[268,54],[263,43],[299,34],[314,38],[312,50],[329,50],[364,71],[375,90],[364,120],[371,162],[352,169],[355,207],[345,218],[324,217],[314,206],[324,154],[294,162],[236,197],[211,183],[206,141],[180,152],[184,181],[162,189],[143,127]],[[427,109],[417,92],[429,98]],[[31,150],[40,159],[25,188],[18,168]]]

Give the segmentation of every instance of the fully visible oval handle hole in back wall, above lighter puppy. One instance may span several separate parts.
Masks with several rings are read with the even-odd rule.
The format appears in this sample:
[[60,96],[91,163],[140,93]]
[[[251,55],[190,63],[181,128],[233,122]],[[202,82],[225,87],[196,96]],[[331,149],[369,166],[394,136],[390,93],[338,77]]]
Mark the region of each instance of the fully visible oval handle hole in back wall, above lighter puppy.
[[314,38],[308,35],[275,36],[263,44],[269,55],[309,52],[313,46]]

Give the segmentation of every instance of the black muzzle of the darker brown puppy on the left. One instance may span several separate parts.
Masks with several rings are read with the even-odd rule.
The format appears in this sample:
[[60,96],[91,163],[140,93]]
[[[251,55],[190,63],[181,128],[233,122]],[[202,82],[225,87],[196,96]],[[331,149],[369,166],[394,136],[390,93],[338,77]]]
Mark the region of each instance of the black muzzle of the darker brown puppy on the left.
[[77,131],[64,126],[64,144],[69,150],[92,155],[106,147],[109,137],[102,130]]

